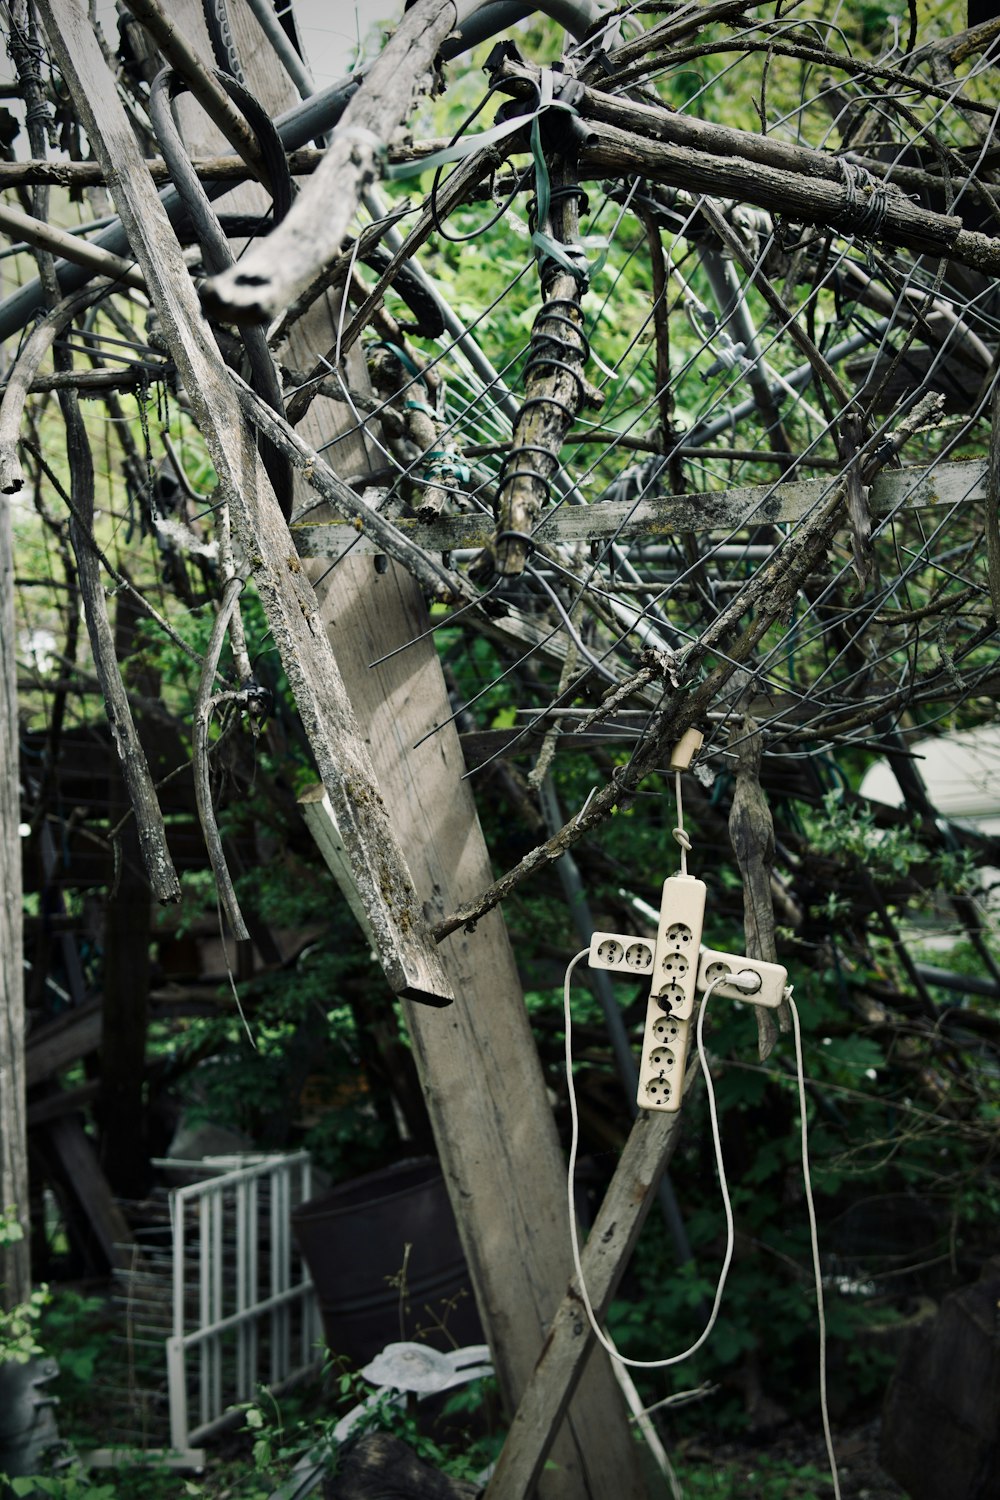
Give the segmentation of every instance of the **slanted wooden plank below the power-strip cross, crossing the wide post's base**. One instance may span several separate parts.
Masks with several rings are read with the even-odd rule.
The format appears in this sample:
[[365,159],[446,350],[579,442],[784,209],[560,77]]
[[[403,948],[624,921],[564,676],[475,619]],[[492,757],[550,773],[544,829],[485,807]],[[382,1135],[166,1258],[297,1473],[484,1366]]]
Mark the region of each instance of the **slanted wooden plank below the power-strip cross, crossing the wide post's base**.
[[[607,1312],[652,1208],[660,1178],[681,1140],[681,1110],[673,1114],[640,1113],[625,1142],[580,1256],[583,1281],[598,1322]],[[528,1500],[534,1494],[550,1450],[552,1434],[573,1398],[595,1342],[574,1275],[517,1407],[486,1500]],[[609,1491],[613,1492],[616,1491]]]

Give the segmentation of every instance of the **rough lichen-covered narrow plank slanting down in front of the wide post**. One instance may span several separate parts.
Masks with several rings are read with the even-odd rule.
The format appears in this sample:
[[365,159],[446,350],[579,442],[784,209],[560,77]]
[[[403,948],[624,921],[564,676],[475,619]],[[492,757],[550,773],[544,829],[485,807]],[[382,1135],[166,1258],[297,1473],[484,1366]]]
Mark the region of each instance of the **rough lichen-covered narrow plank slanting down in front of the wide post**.
[[336,808],[379,962],[397,994],[432,1005],[453,999],[343,688],[312,586],[258,462],[226,368],[201,314],[177,238],[118,102],[85,6],[42,0],[42,18],[91,150],[145,274],[163,338],[190,396],[234,534],[252,560],[274,644]]

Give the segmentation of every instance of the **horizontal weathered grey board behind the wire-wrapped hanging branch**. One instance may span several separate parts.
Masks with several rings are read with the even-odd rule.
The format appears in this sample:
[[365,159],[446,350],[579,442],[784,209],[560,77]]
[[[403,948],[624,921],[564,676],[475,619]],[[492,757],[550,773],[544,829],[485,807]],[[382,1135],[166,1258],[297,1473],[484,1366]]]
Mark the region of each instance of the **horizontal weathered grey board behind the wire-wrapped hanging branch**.
[[[678,531],[744,531],[747,526],[795,525],[820,504],[837,483],[831,478],[792,480],[787,484],[736,484],[733,489],[690,495],[648,496],[637,501],[606,501],[600,506],[559,506],[543,514],[534,536],[549,546],[577,542],[648,542]],[[913,465],[883,470],[871,486],[873,516],[889,516],[900,507],[979,504],[987,498],[987,460]],[[478,516],[441,516],[438,520],[397,518],[393,525],[426,552],[459,552],[489,544],[495,520]],[[355,552],[378,552],[376,543],[354,525],[304,519],[292,526],[303,556],[337,558],[348,546]]]

